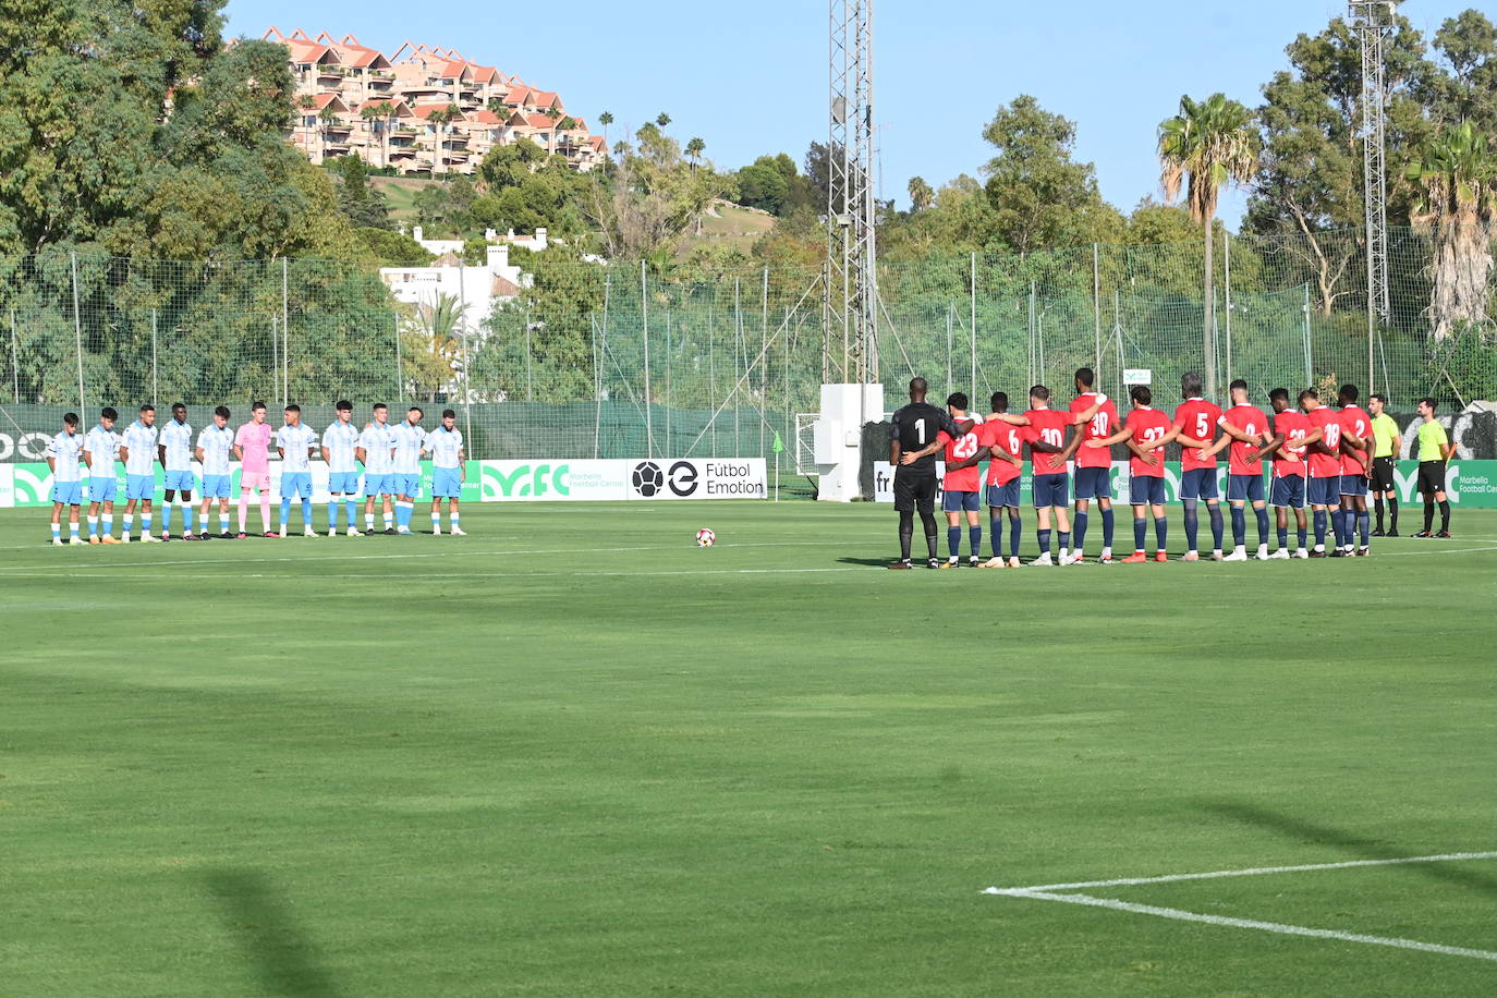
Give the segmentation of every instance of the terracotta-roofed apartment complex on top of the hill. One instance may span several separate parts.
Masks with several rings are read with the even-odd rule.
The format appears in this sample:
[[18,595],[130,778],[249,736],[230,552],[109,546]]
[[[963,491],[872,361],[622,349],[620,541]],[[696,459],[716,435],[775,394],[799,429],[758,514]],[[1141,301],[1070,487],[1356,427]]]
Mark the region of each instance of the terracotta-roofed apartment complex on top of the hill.
[[287,138],[313,163],[358,156],[398,174],[472,174],[490,150],[522,138],[584,172],[608,154],[558,94],[455,49],[406,42],[386,58],[352,34],[272,27],[263,37],[289,52],[296,121]]

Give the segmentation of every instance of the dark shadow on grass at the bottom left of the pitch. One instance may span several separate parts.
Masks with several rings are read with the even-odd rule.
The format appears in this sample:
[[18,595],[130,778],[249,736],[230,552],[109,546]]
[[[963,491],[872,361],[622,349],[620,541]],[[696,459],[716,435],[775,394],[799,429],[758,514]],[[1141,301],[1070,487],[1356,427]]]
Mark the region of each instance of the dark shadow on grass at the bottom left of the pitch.
[[317,947],[296,926],[284,899],[263,874],[214,869],[204,880],[266,994],[337,998],[338,989],[317,964]]

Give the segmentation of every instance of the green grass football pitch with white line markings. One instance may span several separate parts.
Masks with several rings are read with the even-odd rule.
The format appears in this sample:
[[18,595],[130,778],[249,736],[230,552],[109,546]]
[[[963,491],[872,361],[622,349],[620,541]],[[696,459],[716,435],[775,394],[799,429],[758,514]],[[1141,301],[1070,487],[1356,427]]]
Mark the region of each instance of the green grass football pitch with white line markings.
[[[0,992],[1497,988],[982,893],[1497,850],[1497,513],[1367,560],[909,573],[886,507],[466,513],[82,549],[0,513]],[[1088,893],[1497,950],[1494,859]]]

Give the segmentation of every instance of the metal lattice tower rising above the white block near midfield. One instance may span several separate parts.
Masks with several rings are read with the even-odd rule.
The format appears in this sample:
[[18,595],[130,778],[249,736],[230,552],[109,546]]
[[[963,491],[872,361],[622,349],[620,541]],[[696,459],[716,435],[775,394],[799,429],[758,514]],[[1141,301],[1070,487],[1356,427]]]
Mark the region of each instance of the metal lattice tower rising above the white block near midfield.
[[[879,380],[873,190],[873,0],[829,0],[822,380]],[[838,353],[837,335],[841,334]]]

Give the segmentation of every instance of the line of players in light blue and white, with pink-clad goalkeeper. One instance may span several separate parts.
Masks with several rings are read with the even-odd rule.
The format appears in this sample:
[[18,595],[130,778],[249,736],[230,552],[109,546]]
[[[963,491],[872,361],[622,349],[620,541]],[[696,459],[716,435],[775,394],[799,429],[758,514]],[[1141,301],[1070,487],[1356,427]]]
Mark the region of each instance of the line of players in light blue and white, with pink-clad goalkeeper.
[[[458,512],[458,497],[466,479],[463,432],[457,429],[455,413],[442,413],[442,425],[430,432],[421,426],[421,407],[412,405],[404,422],[389,425],[389,407],[383,402],[371,410],[370,422],[359,429],[352,423],[353,404],[340,401],[334,407],[337,419],[322,434],[322,458],[328,462],[328,537],[338,534],[338,507],[346,506],[346,534],[361,537],[374,531],[374,503],[382,500],[386,534],[410,534],[415,497],[421,492],[421,458],[431,455],[431,533],[442,533],[442,503],[448,504],[448,533],[466,536]],[[265,402],[250,407],[250,422],[229,429],[231,413],[225,405],[213,411],[213,425],[204,428],[193,446],[193,428],[187,422],[187,407],[172,405],[172,419],[156,426],[156,407],[141,405],[139,419],[115,432],[118,413],[105,407],[99,425],[87,435],[78,432],[78,416],[63,416],[63,431],[46,446],[46,464],[52,471],[52,543],[61,539],[63,510],[69,509],[69,542],[85,543],[79,536],[82,479],[88,479],[88,540],[91,545],[129,543],[139,509],[142,542],[171,540],[174,501],[183,515],[183,540],[246,539],[246,506],[250,495],[259,498],[260,527],[265,537],[286,537],[293,498],[301,500],[302,534],[316,537],[311,513],[311,456],[319,450],[317,434],[301,422],[301,407],[287,405],[286,422],[272,429],[265,422]],[[280,530],[271,524],[269,446],[274,441],[281,461]],[[229,533],[231,455],[240,461],[240,531]],[[124,462],[126,506],[118,540],[114,537],[114,504],[117,495],[115,461]],[[202,503],[198,509],[199,530],[192,528],[192,500],[198,480],[192,465],[202,467]],[[162,503],[162,533],[151,533],[156,465],[165,470]],[[362,474],[359,467],[362,465]],[[355,527],[362,477],[364,530]],[[210,531],[210,507],[217,500],[219,533]]]

